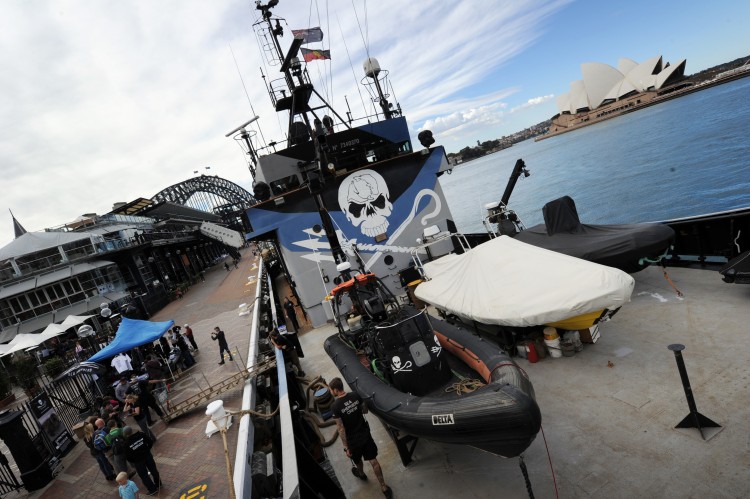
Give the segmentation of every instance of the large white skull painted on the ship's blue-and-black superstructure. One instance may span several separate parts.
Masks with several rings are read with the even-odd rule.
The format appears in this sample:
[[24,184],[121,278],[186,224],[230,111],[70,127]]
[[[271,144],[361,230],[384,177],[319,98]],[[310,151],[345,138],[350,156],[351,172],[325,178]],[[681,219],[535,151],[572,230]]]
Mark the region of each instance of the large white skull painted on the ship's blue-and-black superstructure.
[[360,170],[344,179],[339,206],[352,225],[361,226],[365,236],[375,237],[388,230],[393,204],[385,180],[374,170]]

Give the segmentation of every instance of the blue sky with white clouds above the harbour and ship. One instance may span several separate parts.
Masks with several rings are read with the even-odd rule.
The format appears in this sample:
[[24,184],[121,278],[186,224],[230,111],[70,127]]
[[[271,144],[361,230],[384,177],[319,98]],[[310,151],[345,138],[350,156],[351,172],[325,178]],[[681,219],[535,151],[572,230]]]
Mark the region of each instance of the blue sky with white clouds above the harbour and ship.
[[[584,62],[662,55],[692,74],[750,55],[742,1],[281,0],[274,12],[284,49],[289,29],[323,28],[312,47],[332,60],[308,69],[340,114],[346,95],[363,115],[364,39],[413,135],[430,128],[449,152],[550,118]],[[261,60],[257,17],[247,0],[0,2],[0,245],[13,238],[7,209],[42,230],[206,166],[251,189],[224,135],[257,114],[265,141],[280,141],[287,119],[259,78],[278,73]]]

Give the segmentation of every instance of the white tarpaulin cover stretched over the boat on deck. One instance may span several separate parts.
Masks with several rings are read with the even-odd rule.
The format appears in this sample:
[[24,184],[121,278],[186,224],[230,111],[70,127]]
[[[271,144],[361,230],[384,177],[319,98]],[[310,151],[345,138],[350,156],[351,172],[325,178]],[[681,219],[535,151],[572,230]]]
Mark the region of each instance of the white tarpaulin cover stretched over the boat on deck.
[[484,324],[538,326],[630,301],[625,272],[501,236],[424,265],[420,300]]

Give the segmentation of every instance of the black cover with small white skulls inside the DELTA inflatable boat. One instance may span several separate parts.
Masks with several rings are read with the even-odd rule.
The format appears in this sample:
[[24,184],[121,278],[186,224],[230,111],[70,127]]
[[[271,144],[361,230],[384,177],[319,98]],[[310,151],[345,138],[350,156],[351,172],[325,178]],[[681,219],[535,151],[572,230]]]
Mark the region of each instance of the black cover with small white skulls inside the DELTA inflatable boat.
[[451,378],[443,348],[424,312],[374,329],[373,353],[395,388],[421,396]]

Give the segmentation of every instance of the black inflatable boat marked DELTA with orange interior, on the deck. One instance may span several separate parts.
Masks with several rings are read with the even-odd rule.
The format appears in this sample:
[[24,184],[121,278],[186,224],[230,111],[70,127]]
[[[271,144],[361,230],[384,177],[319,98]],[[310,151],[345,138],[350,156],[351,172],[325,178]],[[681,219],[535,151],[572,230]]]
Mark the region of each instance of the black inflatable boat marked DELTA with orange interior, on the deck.
[[[399,306],[376,283],[372,274],[359,275],[334,289],[334,310],[343,304],[352,313],[339,316],[339,334],[325,342],[342,378],[370,410],[414,437],[503,457],[528,448],[541,414],[526,373],[497,345]],[[344,288],[356,293],[351,309],[342,300]]]

